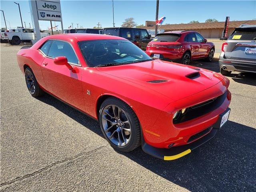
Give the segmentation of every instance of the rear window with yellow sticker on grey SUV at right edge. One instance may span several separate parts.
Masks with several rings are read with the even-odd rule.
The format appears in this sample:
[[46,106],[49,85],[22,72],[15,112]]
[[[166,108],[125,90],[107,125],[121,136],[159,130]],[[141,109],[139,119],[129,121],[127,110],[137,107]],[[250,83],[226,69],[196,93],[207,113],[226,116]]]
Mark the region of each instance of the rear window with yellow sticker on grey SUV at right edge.
[[256,40],[256,28],[236,29],[229,40]]

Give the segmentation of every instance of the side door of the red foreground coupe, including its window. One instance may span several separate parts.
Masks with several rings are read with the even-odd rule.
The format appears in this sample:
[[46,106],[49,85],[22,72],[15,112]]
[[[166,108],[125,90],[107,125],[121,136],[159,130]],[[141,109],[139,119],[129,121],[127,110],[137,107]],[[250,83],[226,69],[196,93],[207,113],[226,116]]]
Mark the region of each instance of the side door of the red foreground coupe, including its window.
[[[82,66],[78,61],[72,45],[61,40],[50,40],[48,50],[44,50],[46,56],[41,64],[42,75],[48,92],[60,98],[64,102],[83,110],[84,100],[82,96],[81,75]],[[47,43],[48,41],[46,41]],[[42,46],[43,47],[43,46]],[[41,50],[42,51],[42,50]],[[72,70],[66,65],[57,65],[54,58],[65,56]]]

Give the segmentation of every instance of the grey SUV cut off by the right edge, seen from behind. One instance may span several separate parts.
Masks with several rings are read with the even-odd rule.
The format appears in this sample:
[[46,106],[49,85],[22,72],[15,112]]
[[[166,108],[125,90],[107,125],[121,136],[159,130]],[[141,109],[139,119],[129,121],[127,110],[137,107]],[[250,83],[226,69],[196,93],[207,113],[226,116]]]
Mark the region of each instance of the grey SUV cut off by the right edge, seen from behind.
[[220,73],[256,72],[256,25],[242,25],[222,44]]

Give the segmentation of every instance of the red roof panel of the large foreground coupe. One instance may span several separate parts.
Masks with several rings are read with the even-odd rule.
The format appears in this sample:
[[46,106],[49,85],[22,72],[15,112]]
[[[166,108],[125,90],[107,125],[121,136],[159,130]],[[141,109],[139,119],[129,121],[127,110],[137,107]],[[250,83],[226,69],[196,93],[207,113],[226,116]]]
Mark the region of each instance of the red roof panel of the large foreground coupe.
[[102,35],[102,34],[91,34],[91,33],[68,33],[68,34],[56,34],[44,37],[47,39],[59,39],[66,41],[84,41],[84,40],[101,40],[101,39],[119,39],[126,40],[125,38],[112,36],[112,35]]

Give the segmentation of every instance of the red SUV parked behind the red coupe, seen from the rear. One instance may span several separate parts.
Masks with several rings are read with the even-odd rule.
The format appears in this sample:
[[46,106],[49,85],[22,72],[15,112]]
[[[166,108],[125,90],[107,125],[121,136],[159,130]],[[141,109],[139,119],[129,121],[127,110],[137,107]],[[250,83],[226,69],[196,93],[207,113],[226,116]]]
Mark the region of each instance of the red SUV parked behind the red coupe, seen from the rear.
[[212,61],[215,46],[196,31],[169,31],[157,34],[148,43],[146,53],[152,58],[180,61],[188,65],[191,60],[206,58]]

